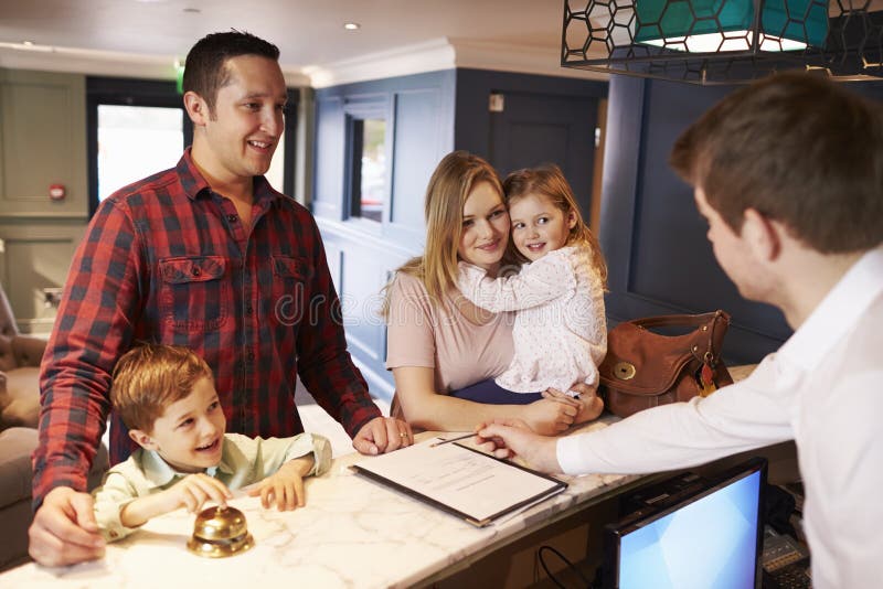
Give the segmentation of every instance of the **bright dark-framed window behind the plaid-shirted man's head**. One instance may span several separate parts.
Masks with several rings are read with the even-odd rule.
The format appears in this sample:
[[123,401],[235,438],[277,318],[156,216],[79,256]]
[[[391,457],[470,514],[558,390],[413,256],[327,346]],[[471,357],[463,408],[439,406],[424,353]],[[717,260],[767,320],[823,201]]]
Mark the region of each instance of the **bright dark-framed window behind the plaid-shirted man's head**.
[[[267,180],[291,194],[298,93],[289,90],[284,140]],[[172,168],[193,142],[193,125],[174,82],[89,77],[86,81],[89,215],[118,189]]]

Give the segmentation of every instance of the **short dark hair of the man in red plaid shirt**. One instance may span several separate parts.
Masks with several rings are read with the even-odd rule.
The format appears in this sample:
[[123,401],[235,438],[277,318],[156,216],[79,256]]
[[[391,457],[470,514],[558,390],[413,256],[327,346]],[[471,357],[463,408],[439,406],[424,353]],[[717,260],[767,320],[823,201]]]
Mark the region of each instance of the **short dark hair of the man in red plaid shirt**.
[[199,94],[214,113],[217,90],[230,82],[226,63],[240,55],[259,55],[279,60],[279,47],[251,33],[230,31],[200,39],[184,63],[183,90]]

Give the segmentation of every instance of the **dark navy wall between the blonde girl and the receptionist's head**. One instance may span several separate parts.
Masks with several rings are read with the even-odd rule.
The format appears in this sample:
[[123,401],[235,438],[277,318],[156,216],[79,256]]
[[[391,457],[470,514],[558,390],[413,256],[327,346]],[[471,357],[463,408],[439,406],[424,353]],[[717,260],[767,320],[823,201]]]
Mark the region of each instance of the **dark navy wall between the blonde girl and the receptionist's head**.
[[[883,96],[883,84],[852,89]],[[677,137],[733,87],[702,87],[614,76],[600,218],[609,266],[607,311],[625,319],[724,309],[731,362],[757,362],[790,335],[775,308],[743,299],[714,259],[693,192],[671,171]]]

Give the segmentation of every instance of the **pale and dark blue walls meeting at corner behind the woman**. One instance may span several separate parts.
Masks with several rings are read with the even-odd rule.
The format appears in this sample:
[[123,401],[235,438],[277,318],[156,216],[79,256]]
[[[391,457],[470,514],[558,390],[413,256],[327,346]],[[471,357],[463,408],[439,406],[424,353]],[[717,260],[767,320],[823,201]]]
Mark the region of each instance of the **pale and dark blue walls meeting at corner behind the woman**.
[[[350,352],[374,394],[392,394],[392,377],[383,367],[385,326],[376,314],[380,292],[396,267],[423,251],[424,193],[438,161],[456,148],[494,163],[490,93],[560,100],[603,98],[606,90],[605,83],[594,81],[479,69],[450,69],[317,90],[312,208],[343,303]],[[393,137],[389,151],[390,204],[383,223],[348,218],[347,212],[347,114],[366,104],[382,105]],[[593,140],[594,124],[586,136],[587,141]],[[530,144],[532,140],[536,142],[528,133],[523,142]],[[586,167],[592,164],[585,162]]]

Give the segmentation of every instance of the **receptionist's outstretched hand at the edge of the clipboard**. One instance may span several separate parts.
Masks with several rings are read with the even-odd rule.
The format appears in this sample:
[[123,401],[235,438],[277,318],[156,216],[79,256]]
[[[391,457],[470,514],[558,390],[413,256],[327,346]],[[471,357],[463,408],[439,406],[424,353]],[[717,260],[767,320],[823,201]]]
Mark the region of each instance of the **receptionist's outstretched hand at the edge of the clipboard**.
[[476,428],[479,447],[497,458],[520,457],[531,468],[561,472],[556,438],[538,436],[521,419],[494,419]]

